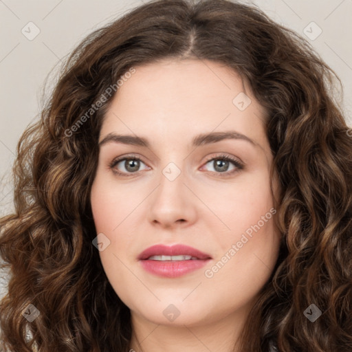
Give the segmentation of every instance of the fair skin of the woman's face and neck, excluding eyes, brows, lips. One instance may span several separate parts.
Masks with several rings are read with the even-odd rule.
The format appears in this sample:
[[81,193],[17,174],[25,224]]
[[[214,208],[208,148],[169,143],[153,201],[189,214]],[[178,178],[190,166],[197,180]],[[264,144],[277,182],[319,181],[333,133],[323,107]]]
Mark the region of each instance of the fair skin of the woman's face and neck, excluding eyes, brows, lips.
[[[135,69],[113,98],[99,140],[130,134],[146,137],[151,146],[100,146],[91,207],[97,234],[110,241],[99,252],[104,271],[131,309],[131,349],[232,351],[280,244],[273,215],[241,248],[236,245],[274,208],[265,111],[241,78],[219,63],[164,60]],[[232,100],[243,91],[251,103],[241,111]],[[214,131],[237,131],[254,144],[227,139],[191,146],[199,133]],[[113,159],[130,153],[142,159],[137,172],[122,161],[114,169],[129,176],[113,173]],[[221,173],[214,160],[208,162],[221,154],[241,161],[243,169],[231,174],[236,166],[230,162]],[[170,162],[181,171],[173,181],[162,173]],[[169,170],[175,175],[175,168]],[[184,276],[161,278],[137,261],[158,243],[190,245],[212,260]],[[230,255],[233,245],[238,251]],[[223,256],[228,261],[212,271]],[[163,314],[169,305],[179,311],[173,321]]]

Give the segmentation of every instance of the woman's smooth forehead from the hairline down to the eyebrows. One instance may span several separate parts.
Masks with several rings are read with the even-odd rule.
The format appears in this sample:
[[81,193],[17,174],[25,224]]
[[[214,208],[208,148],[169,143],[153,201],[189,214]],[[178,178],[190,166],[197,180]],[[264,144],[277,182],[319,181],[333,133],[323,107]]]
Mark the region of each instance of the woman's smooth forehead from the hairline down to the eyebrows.
[[[239,109],[238,97],[247,97],[248,107]],[[163,60],[135,67],[124,80],[100,136],[135,133],[179,143],[180,137],[235,129],[263,143],[264,114],[250,88],[229,67],[213,61]]]

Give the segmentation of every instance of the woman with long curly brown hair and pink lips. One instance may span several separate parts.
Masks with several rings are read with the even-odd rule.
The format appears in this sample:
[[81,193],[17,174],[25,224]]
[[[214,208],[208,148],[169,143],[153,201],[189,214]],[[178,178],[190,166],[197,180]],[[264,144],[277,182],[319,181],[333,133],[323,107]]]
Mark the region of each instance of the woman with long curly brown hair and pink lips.
[[303,39],[225,0],[152,1],[89,35],[19,142],[3,345],[351,351],[333,83]]

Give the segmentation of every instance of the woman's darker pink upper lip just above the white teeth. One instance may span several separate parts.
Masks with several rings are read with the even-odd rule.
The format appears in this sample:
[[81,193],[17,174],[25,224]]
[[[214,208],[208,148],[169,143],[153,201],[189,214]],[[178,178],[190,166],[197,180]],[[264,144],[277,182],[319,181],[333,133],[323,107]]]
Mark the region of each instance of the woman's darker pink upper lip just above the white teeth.
[[139,256],[139,260],[148,259],[150,256],[195,256],[197,259],[211,259],[209,254],[196,250],[188,245],[152,245],[146,248]]

